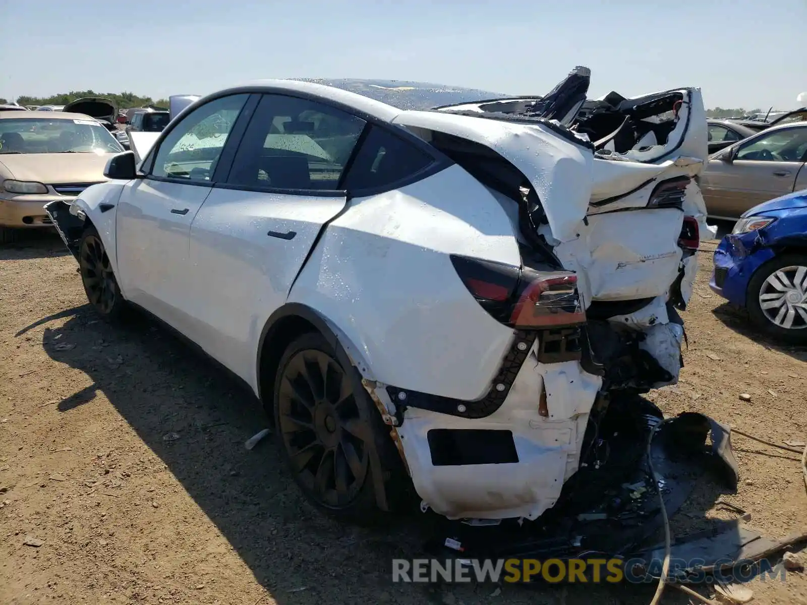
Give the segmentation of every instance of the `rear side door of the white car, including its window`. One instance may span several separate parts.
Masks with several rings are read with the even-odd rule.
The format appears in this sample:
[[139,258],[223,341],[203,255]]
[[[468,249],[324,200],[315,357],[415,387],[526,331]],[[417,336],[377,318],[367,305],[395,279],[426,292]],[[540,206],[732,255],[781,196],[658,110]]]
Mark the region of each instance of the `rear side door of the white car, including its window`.
[[345,207],[341,177],[364,127],[320,102],[264,95],[226,181],[191,224],[190,336],[249,384],[266,319],[286,302],[323,225]]

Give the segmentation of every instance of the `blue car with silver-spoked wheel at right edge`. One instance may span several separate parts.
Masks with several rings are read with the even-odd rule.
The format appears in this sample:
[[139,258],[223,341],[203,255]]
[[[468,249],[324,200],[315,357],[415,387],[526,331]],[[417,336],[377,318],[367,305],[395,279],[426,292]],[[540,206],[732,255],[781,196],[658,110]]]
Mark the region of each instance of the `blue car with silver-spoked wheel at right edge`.
[[763,332],[807,343],[807,189],[746,211],[714,252],[709,286]]

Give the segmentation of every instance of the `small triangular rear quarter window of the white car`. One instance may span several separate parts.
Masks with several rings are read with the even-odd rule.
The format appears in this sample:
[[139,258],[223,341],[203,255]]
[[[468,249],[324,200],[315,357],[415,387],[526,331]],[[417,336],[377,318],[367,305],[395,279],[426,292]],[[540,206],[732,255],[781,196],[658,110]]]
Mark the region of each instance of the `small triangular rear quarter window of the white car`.
[[353,191],[391,185],[420,172],[433,161],[428,153],[386,128],[372,126],[345,177],[344,188]]

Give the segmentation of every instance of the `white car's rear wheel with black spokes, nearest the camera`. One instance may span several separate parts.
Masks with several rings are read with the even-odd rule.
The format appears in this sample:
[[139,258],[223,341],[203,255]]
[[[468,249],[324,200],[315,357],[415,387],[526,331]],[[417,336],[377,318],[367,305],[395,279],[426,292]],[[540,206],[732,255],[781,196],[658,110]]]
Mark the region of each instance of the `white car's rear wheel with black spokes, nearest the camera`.
[[321,511],[354,524],[375,524],[397,509],[411,482],[389,428],[362,386],[318,332],[299,336],[278,364],[274,424],[278,447],[295,482]]

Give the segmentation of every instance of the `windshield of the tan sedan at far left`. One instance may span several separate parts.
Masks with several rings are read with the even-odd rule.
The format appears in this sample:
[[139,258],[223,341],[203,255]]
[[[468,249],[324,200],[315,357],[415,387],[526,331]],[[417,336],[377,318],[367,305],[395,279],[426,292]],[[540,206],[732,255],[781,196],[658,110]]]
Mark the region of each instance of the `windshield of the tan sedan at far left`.
[[96,120],[21,118],[0,121],[5,153],[120,153],[123,147]]

